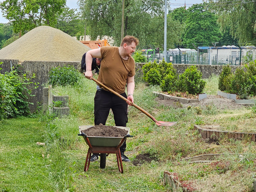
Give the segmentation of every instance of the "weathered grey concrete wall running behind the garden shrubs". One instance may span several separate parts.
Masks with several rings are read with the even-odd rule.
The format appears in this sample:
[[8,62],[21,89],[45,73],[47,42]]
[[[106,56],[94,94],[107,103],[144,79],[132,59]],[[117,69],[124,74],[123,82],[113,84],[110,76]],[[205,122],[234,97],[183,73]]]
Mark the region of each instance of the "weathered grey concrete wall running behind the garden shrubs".
[[[18,60],[1,60],[3,62],[2,65],[0,65],[1,70],[0,72],[4,74],[5,71],[9,72],[11,71],[11,62],[13,67],[17,67]],[[37,106],[37,102],[42,103],[43,100],[43,86],[42,84],[47,83],[48,81],[48,74],[50,72],[50,69],[57,66],[65,66],[65,65],[71,65],[74,66],[77,69],[77,66],[80,64],[80,62],[49,62],[49,61],[24,61],[22,63],[19,63],[21,67],[19,67],[19,70],[23,73],[28,72],[28,77],[32,76],[33,73],[36,74],[36,78],[33,79],[33,82],[38,82],[39,87],[32,92],[32,94],[36,95],[35,97],[32,97],[29,101],[34,103],[34,105],[29,106],[31,111],[34,111]],[[136,63],[136,77],[141,77],[143,75],[143,72],[141,70],[144,63]],[[190,65],[188,64],[173,64],[173,67],[177,69],[177,73],[183,73],[186,68],[188,68]],[[222,70],[222,65],[198,65],[198,69],[203,73],[203,78],[208,78],[212,74],[220,75]],[[239,66],[230,66],[232,69],[232,72],[236,71],[236,68]]]

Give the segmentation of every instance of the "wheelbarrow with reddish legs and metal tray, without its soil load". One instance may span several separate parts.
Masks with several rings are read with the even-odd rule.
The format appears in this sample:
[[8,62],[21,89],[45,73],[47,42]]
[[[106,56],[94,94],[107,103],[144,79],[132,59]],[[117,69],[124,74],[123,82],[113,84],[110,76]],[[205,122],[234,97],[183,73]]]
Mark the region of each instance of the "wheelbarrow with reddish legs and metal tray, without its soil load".
[[106,167],[106,157],[108,154],[116,154],[117,166],[119,172],[123,173],[123,163],[121,158],[120,147],[123,145],[124,141],[127,137],[133,137],[130,135],[130,128],[115,126],[120,129],[124,129],[127,132],[127,135],[124,137],[95,137],[95,136],[87,136],[85,133],[82,133],[82,130],[89,129],[93,125],[83,125],[79,126],[79,134],[78,136],[82,136],[89,146],[85,164],[84,164],[84,172],[88,171],[90,166],[90,160],[92,153],[100,153],[100,168],[104,169]]

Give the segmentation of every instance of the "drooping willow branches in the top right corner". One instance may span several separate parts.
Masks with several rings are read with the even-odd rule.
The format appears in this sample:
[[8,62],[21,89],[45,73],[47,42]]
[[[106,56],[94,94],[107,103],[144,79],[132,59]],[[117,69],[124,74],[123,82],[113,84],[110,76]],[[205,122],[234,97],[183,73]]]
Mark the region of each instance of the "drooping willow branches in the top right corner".
[[223,30],[230,27],[231,35],[240,43],[256,40],[256,1],[208,0],[207,6],[219,15]]

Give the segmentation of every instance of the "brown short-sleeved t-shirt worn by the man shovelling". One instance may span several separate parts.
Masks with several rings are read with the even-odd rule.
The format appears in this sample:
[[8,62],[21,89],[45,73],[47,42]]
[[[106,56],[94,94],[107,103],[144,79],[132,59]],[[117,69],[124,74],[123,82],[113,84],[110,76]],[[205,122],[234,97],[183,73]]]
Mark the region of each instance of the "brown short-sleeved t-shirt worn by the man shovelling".
[[135,75],[134,59],[129,57],[128,60],[124,60],[119,54],[118,47],[101,47],[100,53],[102,60],[98,81],[119,94],[124,93],[128,76]]

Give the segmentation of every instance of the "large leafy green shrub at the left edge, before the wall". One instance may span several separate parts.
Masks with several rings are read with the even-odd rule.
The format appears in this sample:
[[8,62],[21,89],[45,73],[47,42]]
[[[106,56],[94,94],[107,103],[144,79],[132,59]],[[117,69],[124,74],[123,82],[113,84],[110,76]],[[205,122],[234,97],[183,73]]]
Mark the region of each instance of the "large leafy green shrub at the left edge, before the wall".
[[31,82],[26,74],[18,75],[17,69],[0,74],[0,120],[7,117],[29,115],[29,97],[35,96],[31,92],[36,89],[37,83]]

